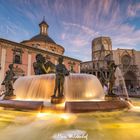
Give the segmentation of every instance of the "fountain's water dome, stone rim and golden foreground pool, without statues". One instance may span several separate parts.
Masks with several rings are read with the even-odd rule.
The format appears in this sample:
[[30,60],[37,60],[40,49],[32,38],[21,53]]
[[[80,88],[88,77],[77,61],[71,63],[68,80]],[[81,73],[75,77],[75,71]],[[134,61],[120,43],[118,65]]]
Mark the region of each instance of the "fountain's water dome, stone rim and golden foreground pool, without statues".
[[[120,75],[116,80],[120,81],[119,78]],[[51,103],[55,74],[20,77],[13,87],[16,98],[0,101],[1,139],[127,139],[125,134],[128,133],[134,139],[139,138],[139,108],[123,111],[120,109],[130,107],[127,101],[120,98],[105,100],[102,85],[96,76],[67,76],[64,83],[65,102],[62,104]],[[110,110],[115,111],[105,112]]]

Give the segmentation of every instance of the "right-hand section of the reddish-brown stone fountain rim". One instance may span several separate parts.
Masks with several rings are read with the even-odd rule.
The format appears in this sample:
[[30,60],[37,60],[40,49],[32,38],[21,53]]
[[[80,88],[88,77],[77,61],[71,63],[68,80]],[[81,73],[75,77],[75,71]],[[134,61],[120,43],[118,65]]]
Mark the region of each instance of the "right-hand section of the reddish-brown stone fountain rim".
[[130,104],[124,100],[66,102],[65,104],[65,110],[73,113],[111,111],[125,108],[130,108]]

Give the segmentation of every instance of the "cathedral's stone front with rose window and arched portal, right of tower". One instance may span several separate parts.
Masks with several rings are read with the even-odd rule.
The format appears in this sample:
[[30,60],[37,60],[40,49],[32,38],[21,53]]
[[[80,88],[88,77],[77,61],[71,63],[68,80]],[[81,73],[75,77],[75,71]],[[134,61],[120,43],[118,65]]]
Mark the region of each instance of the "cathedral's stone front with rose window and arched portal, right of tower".
[[[125,60],[126,63],[123,61],[124,56],[130,57],[130,60]],[[134,49],[117,49],[113,51],[113,58],[115,63],[119,65],[125,80],[130,81],[130,86],[140,86],[140,51]]]

